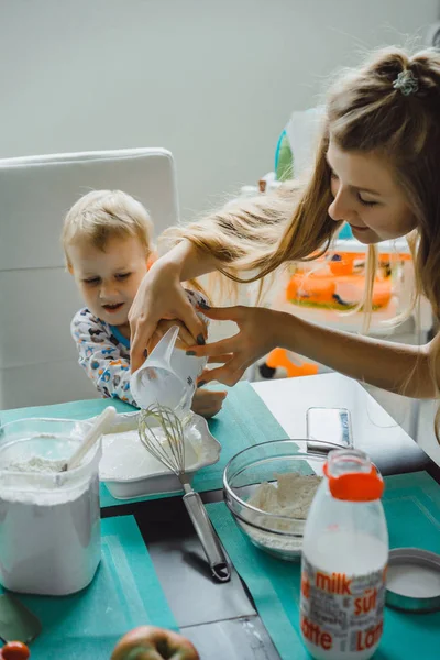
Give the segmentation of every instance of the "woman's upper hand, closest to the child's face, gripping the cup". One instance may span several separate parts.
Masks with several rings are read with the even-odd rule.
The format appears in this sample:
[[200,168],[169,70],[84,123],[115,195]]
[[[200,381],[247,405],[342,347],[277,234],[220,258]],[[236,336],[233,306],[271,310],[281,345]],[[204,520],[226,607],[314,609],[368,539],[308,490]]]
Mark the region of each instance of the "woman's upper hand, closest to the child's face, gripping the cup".
[[178,270],[158,260],[141,282],[129,312],[132,373],[142,365],[145,349],[162,319],[179,319],[194,342],[205,341],[206,328],[188,300]]

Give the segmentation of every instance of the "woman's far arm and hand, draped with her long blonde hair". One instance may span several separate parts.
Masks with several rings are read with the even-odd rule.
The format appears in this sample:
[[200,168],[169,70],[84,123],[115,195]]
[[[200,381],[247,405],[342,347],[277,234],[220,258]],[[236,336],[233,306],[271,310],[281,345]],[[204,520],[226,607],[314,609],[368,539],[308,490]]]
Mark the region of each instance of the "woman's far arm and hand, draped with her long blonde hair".
[[[328,189],[328,182],[322,179]],[[132,371],[142,364],[145,346],[161,319],[182,320],[195,339],[204,340],[200,323],[184,298],[182,282],[220,271],[231,279],[257,273],[268,275],[286,261],[298,261],[323,248],[338,224],[327,216],[310,232],[305,209],[298,205],[300,187],[286,185],[271,195],[239,199],[186,227],[172,227],[162,241],[177,242],[144,277],[130,311]],[[296,209],[298,208],[298,212]],[[294,218],[295,216],[295,218]],[[284,235],[285,234],[285,235]],[[279,244],[283,249],[279,249]]]

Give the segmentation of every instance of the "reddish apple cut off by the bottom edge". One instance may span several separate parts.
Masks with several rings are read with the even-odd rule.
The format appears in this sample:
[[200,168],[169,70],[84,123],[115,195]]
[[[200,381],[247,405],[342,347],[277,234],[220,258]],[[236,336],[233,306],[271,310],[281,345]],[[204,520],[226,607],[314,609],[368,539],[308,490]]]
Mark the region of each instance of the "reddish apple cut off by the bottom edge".
[[141,626],[118,642],[111,660],[200,660],[191,642],[172,630]]

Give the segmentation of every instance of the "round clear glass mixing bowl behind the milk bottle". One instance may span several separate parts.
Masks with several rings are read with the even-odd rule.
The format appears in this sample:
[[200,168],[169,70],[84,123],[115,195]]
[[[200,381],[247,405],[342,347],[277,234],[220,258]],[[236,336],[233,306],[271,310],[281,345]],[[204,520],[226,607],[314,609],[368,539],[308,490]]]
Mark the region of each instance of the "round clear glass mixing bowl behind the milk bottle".
[[[314,440],[314,448],[318,446],[319,442]],[[307,440],[275,440],[244,449],[229,461],[223,473],[224,502],[239,528],[254,546],[287,561],[299,560],[308,506],[304,516],[292,517],[263,510],[250,499],[255,497],[263,483],[277,487],[279,475],[321,477],[330,449],[341,448],[322,442],[322,451],[310,451]],[[316,487],[315,482],[314,486],[308,486],[310,493]],[[292,504],[300,508],[306,506],[295,501]]]

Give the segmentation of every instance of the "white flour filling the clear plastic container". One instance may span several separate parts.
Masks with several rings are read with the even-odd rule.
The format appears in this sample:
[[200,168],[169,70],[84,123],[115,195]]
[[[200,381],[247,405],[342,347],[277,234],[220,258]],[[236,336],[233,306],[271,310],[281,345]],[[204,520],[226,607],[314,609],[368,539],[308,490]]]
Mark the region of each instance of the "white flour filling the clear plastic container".
[[[89,584],[100,560],[98,475],[55,477],[65,461],[32,457],[2,465],[0,581],[32,594],[67,595]],[[7,472],[16,475],[7,483]],[[13,475],[11,474],[11,480]]]

